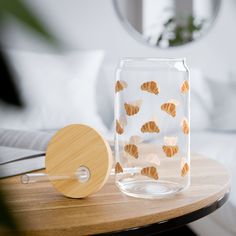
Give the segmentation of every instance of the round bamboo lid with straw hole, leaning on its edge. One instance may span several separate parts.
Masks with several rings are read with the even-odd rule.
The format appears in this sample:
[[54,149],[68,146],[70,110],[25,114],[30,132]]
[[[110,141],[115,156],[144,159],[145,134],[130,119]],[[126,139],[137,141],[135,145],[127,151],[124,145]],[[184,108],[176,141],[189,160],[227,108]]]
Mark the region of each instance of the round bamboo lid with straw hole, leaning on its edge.
[[[105,184],[112,166],[112,152],[96,130],[73,124],[53,136],[47,148],[45,165],[49,179],[60,193],[83,198]],[[80,179],[77,178],[78,171],[82,174]]]

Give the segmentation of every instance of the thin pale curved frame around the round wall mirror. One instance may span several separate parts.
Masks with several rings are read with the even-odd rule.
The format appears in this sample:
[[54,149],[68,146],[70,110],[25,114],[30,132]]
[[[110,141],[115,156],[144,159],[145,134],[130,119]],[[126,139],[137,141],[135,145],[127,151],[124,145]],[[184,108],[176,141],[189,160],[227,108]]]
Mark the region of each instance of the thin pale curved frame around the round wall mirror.
[[125,30],[129,33],[129,35],[131,35],[133,39],[135,39],[136,41],[142,43],[143,45],[146,45],[146,46],[149,46],[149,47],[152,47],[152,48],[156,48],[156,49],[160,49],[160,50],[185,47],[185,46],[191,45],[192,43],[197,42],[197,41],[201,40],[202,38],[204,38],[204,36],[206,34],[208,34],[212,30],[212,28],[213,28],[213,26],[214,26],[214,24],[216,22],[217,16],[220,13],[221,5],[222,5],[222,0],[214,0],[214,1],[218,2],[218,6],[216,7],[216,12],[215,12],[214,16],[210,20],[211,27],[209,27],[209,28],[207,28],[205,30],[205,34],[204,35],[202,35],[202,36],[196,38],[195,40],[192,40],[192,41],[190,41],[190,42],[188,42],[186,44],[176,45],[174,47],[162,48],[162,47],[158,47],[156,45],[149,44],[148,41],[145,40],[145,38],[137,30],[134,29],[134,27],[122,15],[122,13],[121,13],[121,11],[119,9],[119,6],[118,6],[118,1],[119,0],[112,0],[113,8],[115,9],[116,15],[118,16],[121,24],[123,25]]

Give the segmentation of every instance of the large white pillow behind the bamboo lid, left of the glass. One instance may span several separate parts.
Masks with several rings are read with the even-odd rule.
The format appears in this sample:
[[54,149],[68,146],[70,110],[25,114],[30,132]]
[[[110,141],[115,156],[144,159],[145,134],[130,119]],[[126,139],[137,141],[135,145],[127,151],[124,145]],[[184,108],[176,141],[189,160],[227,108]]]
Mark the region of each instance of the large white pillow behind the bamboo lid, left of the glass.
[[57,129],[85,123],[105,129],[97,114],[95,97],[103,51],[59,55],[11,50],[7,56],[26,108],[19,112],[2,107],[1,127]]

